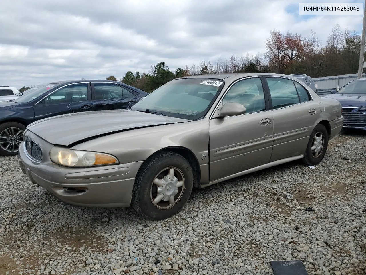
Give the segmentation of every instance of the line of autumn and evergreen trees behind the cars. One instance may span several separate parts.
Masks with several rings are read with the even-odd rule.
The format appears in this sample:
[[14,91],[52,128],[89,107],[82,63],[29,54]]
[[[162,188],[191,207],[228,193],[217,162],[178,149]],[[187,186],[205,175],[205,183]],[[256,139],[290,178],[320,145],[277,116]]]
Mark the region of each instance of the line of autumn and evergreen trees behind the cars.
[[[322,45],[313,30],[307,37],[302,37],[298,33],[273,29],[265,47],[264,55],[232,55],[229,59],[220,58],[214,64],[201,59],[197,65],[179,67],[174,72],[165,62],[159,62],[148,73],[128,71],[120,81],[151,92],[174,78],[200,74],[304,73],[312,78],[354,74],[358,71],[361,36],[348,29],[342,32],[336,24]],[[114,76],[107,80],[117,81]]]

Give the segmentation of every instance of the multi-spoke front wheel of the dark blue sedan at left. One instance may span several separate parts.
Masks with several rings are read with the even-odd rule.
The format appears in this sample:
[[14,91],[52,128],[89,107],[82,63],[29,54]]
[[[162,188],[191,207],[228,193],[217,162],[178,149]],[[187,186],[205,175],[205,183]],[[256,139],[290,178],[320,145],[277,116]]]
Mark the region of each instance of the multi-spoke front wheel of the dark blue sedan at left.
[[0,155],[10,156],[18,154],[25,129],[26,126],[18,122],[0,124]]

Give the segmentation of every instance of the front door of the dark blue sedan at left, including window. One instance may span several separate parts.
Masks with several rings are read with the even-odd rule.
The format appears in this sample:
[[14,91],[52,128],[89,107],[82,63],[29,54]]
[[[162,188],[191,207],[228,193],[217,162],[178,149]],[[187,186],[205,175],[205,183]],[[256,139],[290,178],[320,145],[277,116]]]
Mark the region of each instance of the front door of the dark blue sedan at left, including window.
[[67,84],[34,104],[36,120],[86,111],[91,107],[90,83]]

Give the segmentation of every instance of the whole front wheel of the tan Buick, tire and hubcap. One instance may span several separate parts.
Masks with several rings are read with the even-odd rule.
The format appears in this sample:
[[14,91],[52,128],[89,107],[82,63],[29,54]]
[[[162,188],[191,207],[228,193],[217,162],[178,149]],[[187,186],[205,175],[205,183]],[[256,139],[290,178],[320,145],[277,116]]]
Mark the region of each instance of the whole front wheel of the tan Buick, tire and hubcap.
[[147,159],[135,179],[132,207],[153,220],[178,213],[193,188],[192,168],[182,155],[164,151]]

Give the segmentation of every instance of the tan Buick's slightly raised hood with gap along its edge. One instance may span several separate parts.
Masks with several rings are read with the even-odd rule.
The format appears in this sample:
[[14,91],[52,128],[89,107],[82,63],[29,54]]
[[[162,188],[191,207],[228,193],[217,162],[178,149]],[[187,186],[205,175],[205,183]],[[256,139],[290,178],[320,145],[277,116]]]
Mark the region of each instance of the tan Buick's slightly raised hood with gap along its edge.
[[70,146],[111,133],[188,121],[132,110],[106,110],[57,115],[33,122],[27,129],[49,143]]

